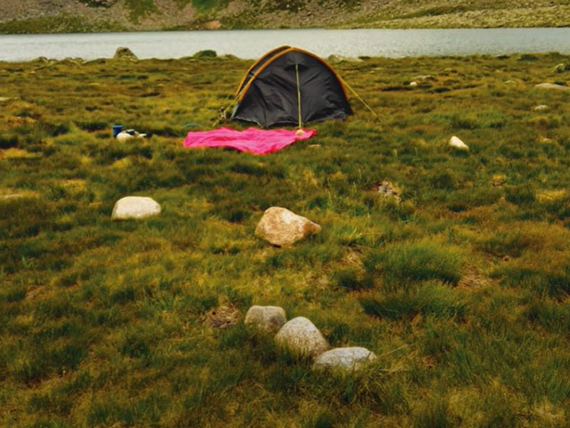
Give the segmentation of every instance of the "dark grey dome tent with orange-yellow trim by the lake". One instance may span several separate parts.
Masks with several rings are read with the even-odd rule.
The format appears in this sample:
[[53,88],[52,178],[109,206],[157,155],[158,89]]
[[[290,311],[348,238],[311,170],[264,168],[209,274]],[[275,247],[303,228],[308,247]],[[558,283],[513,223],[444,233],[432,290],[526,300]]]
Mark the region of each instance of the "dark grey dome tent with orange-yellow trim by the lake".
[[281,46],[261,56],[237,90],[232,119],[262,127],[298,125],[351,114],[341,78],[322,58]]

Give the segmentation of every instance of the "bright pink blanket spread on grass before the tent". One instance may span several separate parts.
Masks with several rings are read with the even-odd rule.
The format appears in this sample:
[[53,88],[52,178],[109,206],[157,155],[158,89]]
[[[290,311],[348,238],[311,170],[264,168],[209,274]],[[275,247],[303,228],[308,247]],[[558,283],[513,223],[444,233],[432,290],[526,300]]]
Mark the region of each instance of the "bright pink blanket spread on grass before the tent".
[[235,131],[232,128],[218,128],[212,131],[189,132],[184,141],[185,147],[231,147],[256,155],[264,155],[281,150],[295,141],[307,140],[314,136],[314,129],[287,131],[286,129],[247,128]]

